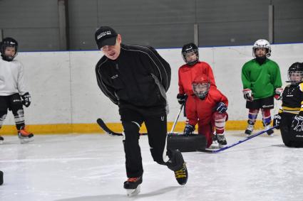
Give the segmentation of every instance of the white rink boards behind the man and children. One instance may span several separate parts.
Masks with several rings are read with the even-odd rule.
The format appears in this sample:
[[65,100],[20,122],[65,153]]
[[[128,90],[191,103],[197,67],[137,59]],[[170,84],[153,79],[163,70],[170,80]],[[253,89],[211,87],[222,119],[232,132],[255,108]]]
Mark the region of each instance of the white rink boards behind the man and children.
[[[158,52],[170,63],[172,80],[168,91],[173,121],[180,108],[178,68],[183,65],[180,48],[160,49]],[[303,43],[272,45],[271,59],[287,79],[287,69],[294,62],[302,62]],[[119,122],[118,108],[98,89],[95,65],[103,54],[100,51],[19,53],[25,67],[26,82],[32,96],[31,107],[25,109],[26,124],[94,123],[98,117],[106,122]],[[200,60],[209,63],[220,91],[227,96],[230,120],[245,120],[247,109],[242,98],[241,68],[252,59],[252,46],[200,48]],[[276,106],[280,103],[275,102]],[[277,107],[276,109],[277,110]],[[181,117],[180,121],[184,118]],[[12,114],[4,124],[14,125]]]

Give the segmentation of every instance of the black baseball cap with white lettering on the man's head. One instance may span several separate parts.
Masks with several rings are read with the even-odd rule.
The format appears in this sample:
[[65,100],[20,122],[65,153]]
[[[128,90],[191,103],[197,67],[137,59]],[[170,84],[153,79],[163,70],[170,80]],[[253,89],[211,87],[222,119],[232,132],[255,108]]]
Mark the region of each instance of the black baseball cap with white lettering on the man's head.
[[95,33],[95,40],[100,50],[105,45],[115,45],[118,34],[109,26],[101,26]]

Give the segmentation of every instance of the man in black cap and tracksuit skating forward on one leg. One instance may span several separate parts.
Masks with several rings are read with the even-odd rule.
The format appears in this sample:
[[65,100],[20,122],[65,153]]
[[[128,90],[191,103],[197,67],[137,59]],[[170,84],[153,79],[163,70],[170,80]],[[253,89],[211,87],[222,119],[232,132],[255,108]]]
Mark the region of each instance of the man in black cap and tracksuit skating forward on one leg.
[[119,107],[123,125],[123,145],[128,195],[140,192],[143,166],[139,146],[140,126],[145,123],[153,160],[175,172],[180,185],[188,180],[188,170],[178,150],[167,150],[170,65],[148,46],[125,45],[113,28],[101,26],[95,33],[104,56],[96,65],[98,86]]

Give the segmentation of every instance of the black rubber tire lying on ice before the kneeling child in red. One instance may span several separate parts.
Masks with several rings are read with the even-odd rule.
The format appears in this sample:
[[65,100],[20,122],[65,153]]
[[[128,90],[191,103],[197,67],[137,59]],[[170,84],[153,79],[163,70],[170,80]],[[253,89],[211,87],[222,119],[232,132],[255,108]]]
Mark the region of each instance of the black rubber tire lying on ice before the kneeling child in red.
[[168,149],[179,149],[181,152],[201,151],[206,148],[206,138],[203,135],[190,136],[168,134]]

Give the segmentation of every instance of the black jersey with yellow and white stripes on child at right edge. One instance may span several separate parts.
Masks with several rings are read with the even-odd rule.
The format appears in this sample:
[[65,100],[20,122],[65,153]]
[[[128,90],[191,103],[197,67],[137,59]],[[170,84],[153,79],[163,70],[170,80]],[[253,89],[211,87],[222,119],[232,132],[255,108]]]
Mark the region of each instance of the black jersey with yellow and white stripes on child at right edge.
[[299,114],[303,116],[303,83],[287,85],[282,94],[282,109],[280,112]]

